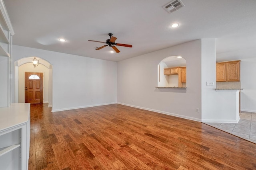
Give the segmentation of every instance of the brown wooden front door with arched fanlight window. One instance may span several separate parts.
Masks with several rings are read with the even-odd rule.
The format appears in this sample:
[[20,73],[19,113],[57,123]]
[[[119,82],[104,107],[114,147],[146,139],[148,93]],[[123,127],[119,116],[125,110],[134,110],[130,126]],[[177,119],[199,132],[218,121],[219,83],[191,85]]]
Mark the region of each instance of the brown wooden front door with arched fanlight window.
[[42,72],[25,72],[25,103],[43,103]]

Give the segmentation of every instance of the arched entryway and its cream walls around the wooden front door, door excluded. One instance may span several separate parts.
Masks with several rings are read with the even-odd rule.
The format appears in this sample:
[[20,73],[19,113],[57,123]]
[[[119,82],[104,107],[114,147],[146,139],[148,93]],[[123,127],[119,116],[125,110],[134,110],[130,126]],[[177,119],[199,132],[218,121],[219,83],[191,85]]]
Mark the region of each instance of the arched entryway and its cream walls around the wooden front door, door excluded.
[[[35,56],[36,57],[36,56]],[[44,73],[44,103],[52,107],[52,64],[48,61],[36,57],[39,60],[38,66],[33,65],[33,57],[24,57],[15,61],[15,103],[25,102],[25,72],[43,72]]]

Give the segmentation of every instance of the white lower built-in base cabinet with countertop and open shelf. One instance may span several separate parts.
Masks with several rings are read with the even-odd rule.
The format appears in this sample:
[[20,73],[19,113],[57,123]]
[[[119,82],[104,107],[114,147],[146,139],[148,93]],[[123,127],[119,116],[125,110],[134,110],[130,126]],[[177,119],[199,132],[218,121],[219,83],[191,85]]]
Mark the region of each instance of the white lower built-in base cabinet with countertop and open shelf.
[[30,104],[0,108],[0,169],[27,170],[30,144]]

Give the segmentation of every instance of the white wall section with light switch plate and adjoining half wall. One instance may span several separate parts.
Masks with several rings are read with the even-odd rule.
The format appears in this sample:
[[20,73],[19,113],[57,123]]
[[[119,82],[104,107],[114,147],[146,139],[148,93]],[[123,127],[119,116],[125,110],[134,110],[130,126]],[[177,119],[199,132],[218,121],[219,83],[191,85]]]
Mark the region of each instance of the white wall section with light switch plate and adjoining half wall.
[[[238,90],[216,88],[216,39],[202,39],[202,122],[239,121]],[[207,86],[213,82],[214,86]]]

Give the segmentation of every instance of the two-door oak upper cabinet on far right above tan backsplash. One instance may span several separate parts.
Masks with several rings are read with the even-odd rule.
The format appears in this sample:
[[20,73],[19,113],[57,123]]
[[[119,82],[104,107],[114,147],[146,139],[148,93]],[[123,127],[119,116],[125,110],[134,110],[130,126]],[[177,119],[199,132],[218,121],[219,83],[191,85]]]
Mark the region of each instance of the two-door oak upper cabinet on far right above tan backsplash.
[[216,63],[216,82],[240,81],[240,60]]

